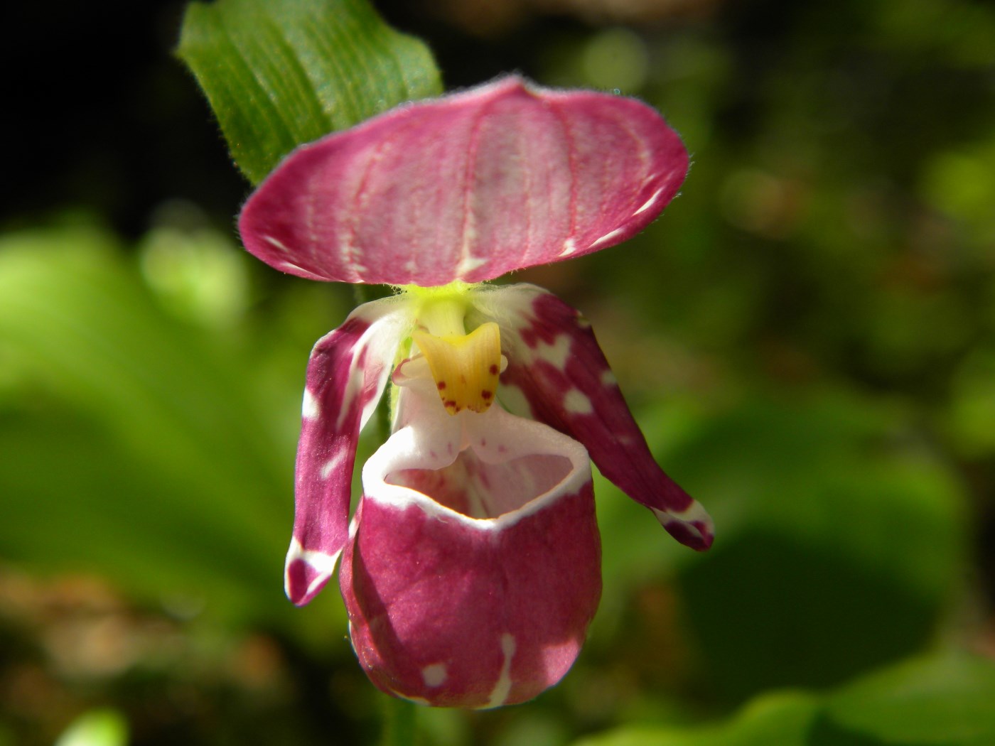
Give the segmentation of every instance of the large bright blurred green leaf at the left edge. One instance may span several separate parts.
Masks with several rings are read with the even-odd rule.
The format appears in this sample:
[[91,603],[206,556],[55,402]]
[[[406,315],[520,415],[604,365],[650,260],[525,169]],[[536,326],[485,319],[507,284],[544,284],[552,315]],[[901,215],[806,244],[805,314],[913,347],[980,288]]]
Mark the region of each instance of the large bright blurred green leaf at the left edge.
[[0,242],[0,361],[0,554],[223,615],[284,608],[295,415],[262,406],[251,360],[67,229]]

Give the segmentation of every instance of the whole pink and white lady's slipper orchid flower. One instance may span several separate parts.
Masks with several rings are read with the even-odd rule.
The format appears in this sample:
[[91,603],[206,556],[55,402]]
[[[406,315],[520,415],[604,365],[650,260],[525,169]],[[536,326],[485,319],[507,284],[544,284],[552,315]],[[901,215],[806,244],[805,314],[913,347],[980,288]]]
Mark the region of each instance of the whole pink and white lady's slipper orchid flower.
[[[589,460],[678,541],[710,545],[588,322],[534,285],[485,283],[628,239],[687,170],[646,104],[507,77],[303,145],[246,203],[245,246],[272,267],[399,288],[311,352],[286,565],[303,605],[341,559],[352,645],[384,691],[484,708],[563,676],[601,594]],[[388,382],[392,434],[350,522],[356,442]]]

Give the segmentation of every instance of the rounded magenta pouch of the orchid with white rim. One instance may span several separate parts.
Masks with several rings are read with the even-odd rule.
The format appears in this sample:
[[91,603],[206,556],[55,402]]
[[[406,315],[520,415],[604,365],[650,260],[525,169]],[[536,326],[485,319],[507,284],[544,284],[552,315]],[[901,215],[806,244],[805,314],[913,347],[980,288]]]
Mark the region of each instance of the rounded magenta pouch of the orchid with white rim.
[[[601,550],[583,447],[497,407],[467,414],[491,420],[494,440],[460,462],[558,469],[553,486],[497,517],[472,518],[436,502],[438,493],[404,486],[428,485],[412,471],[427,465],[388,442],[363,469],[339,581],[353,647],[378,687],[486,708],[530,699],[569,669],[600,598]],[[470,430],[479,444],[483,431]]]

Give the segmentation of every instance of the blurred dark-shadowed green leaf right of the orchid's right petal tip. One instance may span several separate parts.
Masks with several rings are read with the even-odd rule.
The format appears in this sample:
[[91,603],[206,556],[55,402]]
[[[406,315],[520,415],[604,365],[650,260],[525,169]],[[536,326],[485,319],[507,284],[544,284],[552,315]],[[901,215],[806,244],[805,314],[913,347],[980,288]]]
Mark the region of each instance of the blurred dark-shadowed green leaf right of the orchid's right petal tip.
[[921,650],[963,576],[963,497],[900,407],[757,398],[670,458],[711,509],[679,573],[720,691],[821,686]]

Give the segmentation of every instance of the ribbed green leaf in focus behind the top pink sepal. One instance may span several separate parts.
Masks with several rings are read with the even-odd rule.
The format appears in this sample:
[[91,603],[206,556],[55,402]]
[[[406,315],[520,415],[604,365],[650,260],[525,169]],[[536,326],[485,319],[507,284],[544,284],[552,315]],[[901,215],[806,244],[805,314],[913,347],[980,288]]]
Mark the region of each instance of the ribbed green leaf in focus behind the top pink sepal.
[[428,48],[365,0],[191,3],[178,54],[254,184],[301,143],[442,93]]

